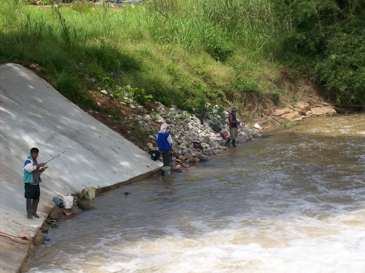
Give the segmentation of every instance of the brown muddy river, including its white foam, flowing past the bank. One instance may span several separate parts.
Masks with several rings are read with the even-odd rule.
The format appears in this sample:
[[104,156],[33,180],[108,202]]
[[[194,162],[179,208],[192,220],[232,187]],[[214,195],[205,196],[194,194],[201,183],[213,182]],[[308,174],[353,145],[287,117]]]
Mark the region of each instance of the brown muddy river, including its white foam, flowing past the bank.
[[27,272],[365,272],[365,115],[309,119],[92,205]]

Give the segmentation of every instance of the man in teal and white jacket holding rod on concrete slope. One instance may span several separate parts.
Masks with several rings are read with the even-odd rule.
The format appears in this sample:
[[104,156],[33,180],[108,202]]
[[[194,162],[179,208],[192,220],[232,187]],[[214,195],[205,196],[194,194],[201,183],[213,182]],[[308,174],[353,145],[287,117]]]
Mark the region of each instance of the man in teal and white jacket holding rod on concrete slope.
[[[40,188],[39,183],[42,182],[40,174],[45,171],[45,163],[37,161],[39,150],[37,148],[31,149],[31,155],[28,156],[24,162],[24,197],[27,199],[27,217],[39,218],[37,215],[37,207],[39,203]],[[43,168],[42,168],[43,167]]]

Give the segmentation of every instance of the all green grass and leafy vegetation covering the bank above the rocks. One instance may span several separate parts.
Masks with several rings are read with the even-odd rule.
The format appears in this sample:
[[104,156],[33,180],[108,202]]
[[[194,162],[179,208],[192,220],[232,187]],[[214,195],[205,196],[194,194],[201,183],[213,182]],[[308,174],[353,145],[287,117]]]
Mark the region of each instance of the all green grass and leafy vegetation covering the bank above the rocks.
[[141,105],[205,116],[205,102],[234,104],[250,119],[297,98],[283,68],[292,86],[306,77],[334,102],[365,102],[364,0],[29,3],[0,0],[0,62],[39,64],[83,107],[95,107],[90,91],[129,90]]

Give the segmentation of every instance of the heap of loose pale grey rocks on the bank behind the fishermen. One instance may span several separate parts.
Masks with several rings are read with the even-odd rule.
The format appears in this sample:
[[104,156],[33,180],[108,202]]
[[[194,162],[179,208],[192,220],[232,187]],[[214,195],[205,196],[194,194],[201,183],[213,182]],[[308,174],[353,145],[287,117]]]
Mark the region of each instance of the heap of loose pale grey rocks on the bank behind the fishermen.
[[[159,125],[156,123],[166,122],[169,126],[169,132],[174,140],[172,144],[174,156],[180,164],[193,164],[199,161],[204,155],[211,156],[218,154],[227,149],[224,147],[226,137],[213,130],[214,124],[217,123],[222,130],[228,129],[228,112],[218,111],[218,105],[214,106],[216,111],[212,111],[205,119],[199,119],[194,115],[188,114],[186,111],[178,109],[176,105],[171,105],[167,108],[161,102],[154,102],[157,108],[152,109],[151,113],[145,114],[143,106],[134,106],[135,102],[124,95],[124,101],[129,107],[138,109],[140,114],[131,114],[126,117],[123,122],[139,127],[147,131],[150,142],[146,145],[146,150],[155,150],[156,135],[159,132]],[[214,110],[213,109],[213,110]],[[132,134],[127,131],[128,134]],[[238,129],[239,137],[236,139],[237,144],[242,144],[247,141],[252,141],[261,136],[256,129],[250,129],[247,126],[240,126]],[[193,142],[200,143],[200,146],[194,145]],[[205,158],[204,160],[207,160]]]

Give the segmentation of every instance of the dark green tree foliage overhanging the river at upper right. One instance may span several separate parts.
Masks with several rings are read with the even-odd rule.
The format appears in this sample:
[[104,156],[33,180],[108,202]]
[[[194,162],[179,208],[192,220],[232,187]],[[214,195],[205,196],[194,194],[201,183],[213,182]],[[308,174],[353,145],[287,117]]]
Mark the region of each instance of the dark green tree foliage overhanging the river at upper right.
[[281,59],[307,70],[333,101],[364,104],[365,1],[286,0],[277,7],[287,29]]

